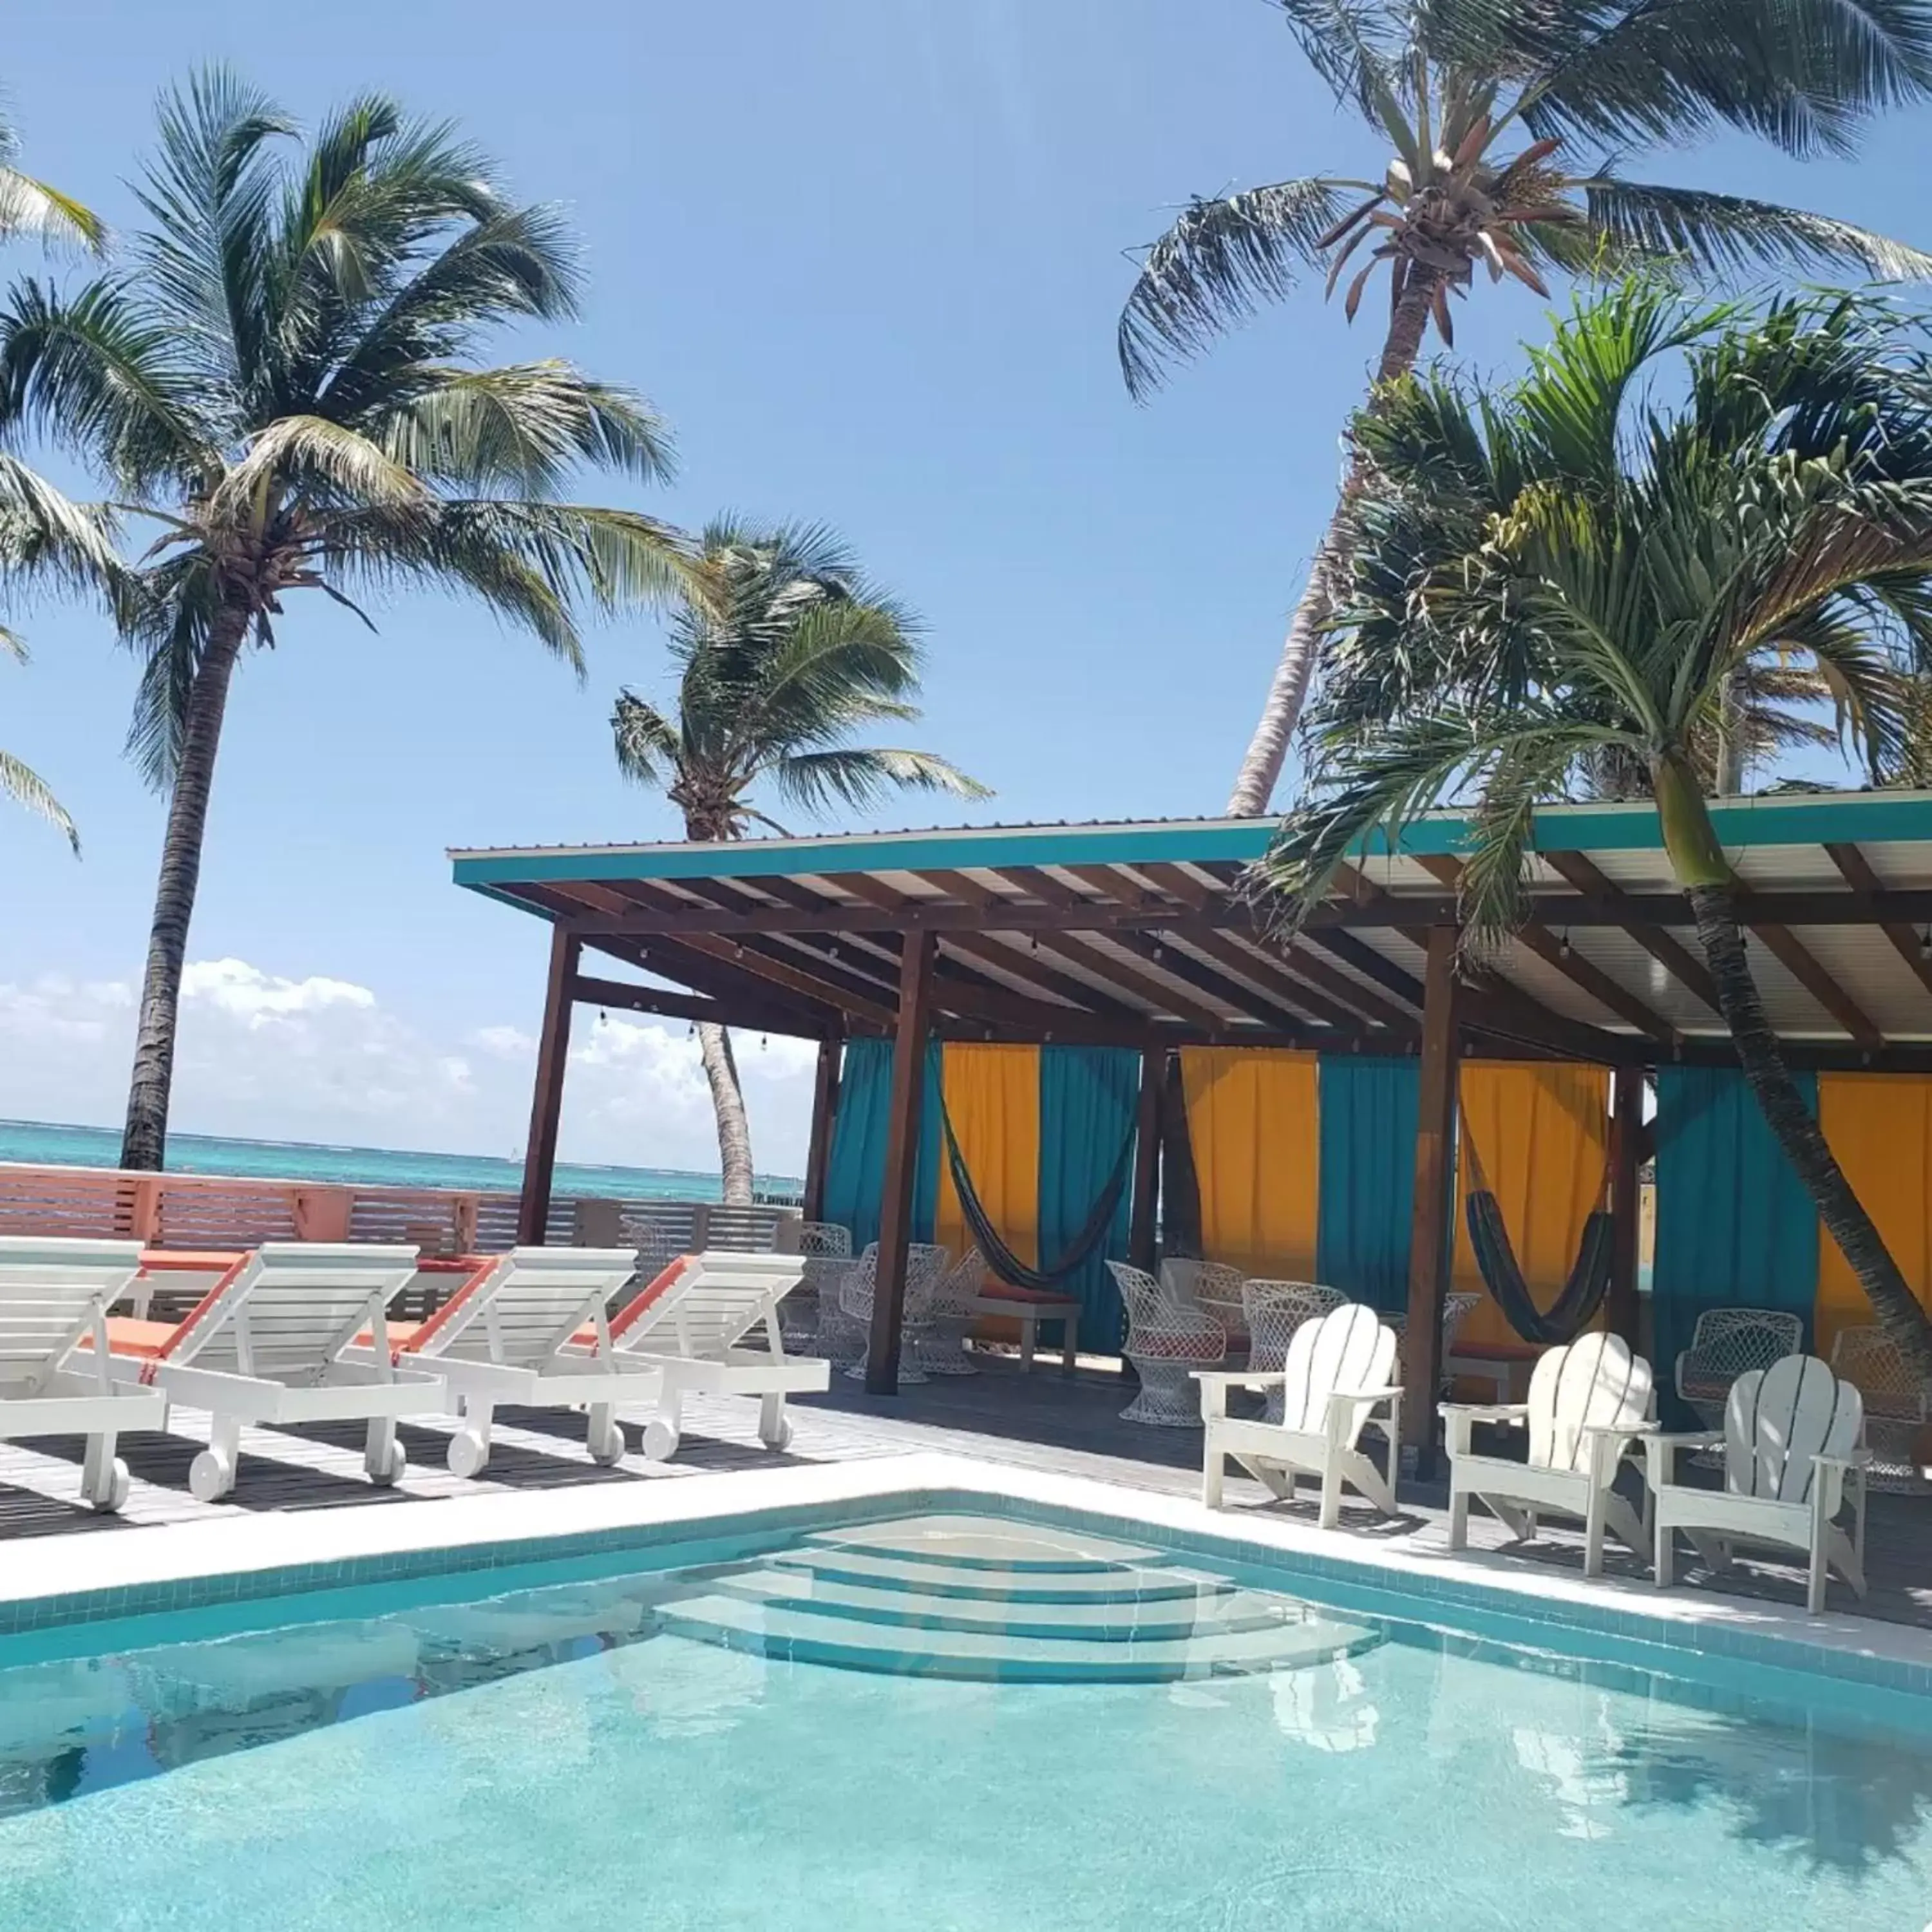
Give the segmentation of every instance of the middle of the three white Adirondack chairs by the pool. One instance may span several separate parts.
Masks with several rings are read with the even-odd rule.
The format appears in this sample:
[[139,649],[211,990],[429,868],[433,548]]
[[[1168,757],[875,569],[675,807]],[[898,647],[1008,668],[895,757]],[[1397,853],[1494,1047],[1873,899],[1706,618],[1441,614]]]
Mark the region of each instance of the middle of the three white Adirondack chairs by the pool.
[[[1468,1505],[1480,1501],[1528,1542],[1542,1513],[1580,1517],[1582,1573],[1604,1573],[1604,1530],[1648,1555],[1648,1511],[1640,1519],[1611,1488],[1631,1445],[1656,1424],[1650,1364],[1617,1335],[1584,1335],[1538,1356],[1526,1403],[1443,1403],[1449,1435],[1449,1548],[1468,1548]],[[1476,1455],[1478,1422],[1528,1428],[1526,1463]]]

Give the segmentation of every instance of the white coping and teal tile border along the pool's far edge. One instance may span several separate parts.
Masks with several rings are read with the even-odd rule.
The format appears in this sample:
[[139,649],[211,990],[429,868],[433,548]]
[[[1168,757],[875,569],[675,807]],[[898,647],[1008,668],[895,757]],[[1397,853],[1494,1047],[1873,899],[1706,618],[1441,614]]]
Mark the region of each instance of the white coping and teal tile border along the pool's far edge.
[[1718,1660],[1822,1675],[1864,1694],[1932,1698],[1932,1633],[1911,1627],[1586,1582],[1476,1553],[1389,1549],[1275,1515],[1209,1513],[1180,1497],[939,1453],[0,1544],[0,1636],[630,1549],[682,1553],[707,1532],[742,1542],[829,1515],[864,1520],[949,1507],[1128,1532],[1184,1555],[1265,1567],[1376,1615],[1453,1627],[1497,1619],[1513,1627],[1509,1642],[1534,1644],[1542,1627],[1549,1648],[1584,1660],[1662,1671],[1696,1660],[1706,1675]]

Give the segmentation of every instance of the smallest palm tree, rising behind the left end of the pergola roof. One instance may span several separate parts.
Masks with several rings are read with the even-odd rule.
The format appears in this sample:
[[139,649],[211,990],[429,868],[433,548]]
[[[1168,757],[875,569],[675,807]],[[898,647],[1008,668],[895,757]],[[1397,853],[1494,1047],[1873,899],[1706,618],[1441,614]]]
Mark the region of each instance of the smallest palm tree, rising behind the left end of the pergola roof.
[[[661,711],[618,694],[611,730],[626,775],[659,788],[684,837],[744,838],[784,827],[752,804],[769,781],[786,804],[866,810],[889,790],[985,798],[987,788],[931,752],[852,746],[866,724],[910,723],[920,626],[866,582],[852,553],[810,524],[707,526],[694,585],[670,620],[678,701]],[[730,1036],[699,1022],[697,1043],[719,1124],[724,1200],[752,1200],[752,1128]]]

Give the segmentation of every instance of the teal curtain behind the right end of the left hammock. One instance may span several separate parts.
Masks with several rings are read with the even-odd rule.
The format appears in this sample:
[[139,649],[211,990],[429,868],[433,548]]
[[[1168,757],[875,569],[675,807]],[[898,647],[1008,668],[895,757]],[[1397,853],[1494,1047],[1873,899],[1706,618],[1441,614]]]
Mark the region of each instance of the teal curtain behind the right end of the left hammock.
[[[1132,1132],[1140,1055],[1132,1047],[1039,1049],[1039,1260],[1059,1260],[1086,1227]],[[1109,1260],[1126,1258],[1132,1186],[1121,1190],[1105,1242],[1061,1287],[1080,1296],[1080,1341],[1115,1352],[1124,1321]]]

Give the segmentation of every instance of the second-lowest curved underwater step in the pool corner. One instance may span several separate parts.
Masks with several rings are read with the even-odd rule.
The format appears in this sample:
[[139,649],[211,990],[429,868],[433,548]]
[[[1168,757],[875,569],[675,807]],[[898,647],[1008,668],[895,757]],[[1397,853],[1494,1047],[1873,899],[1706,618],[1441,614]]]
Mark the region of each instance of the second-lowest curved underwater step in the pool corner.
[[[833,1582],[796,1569],[761,1565],[715,1578],[726,1596],[798,1609],[854,1623],[918,1631],[980,1631],[999,1636],[1082,1638],[1090,1642],[1142,1642],[1184,1636],[1271,1631],[1298,1605],[1252,1590],[1206,1590],[1150,1604],[1030,1604],[997,1596],[931,1596],[920,1590],[877,1590]],[[879,1636],[877,1642],[887,1638]]]

